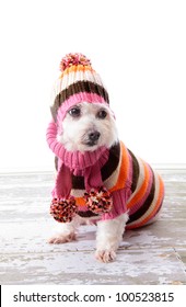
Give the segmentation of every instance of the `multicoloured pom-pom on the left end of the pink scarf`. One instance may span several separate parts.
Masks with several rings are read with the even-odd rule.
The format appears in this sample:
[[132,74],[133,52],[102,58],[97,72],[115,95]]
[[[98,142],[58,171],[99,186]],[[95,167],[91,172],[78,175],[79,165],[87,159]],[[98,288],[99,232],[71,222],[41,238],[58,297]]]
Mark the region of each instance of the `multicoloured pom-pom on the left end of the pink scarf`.
[[77,213],[78,207],[73,196],[68,200],[54,198],[51,201],[50,214],[57,221],[70,223]]

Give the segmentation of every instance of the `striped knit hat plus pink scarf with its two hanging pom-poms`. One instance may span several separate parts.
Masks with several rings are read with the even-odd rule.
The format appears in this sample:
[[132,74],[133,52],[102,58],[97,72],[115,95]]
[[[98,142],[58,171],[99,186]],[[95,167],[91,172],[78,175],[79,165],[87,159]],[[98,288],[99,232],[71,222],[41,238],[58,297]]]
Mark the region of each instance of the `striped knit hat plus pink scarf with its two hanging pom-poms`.
[[57,140],[66,113],[81,102],[109,104],[108,93],[101,77],[82,54],[68,54],[60,62],[61,76],[53,92],[53,122],[47,128],[47,143],[58,157],[58,173],[53,191],[50,213],[60,223],[67,223],[78,213],[71,195],[71,174],[84,177],[84,198],[88,209],[94,213],[109,212],[113,205],[109,192],[103,186],[101,167],[108,159],[108,148],[95,151],[70,152]]

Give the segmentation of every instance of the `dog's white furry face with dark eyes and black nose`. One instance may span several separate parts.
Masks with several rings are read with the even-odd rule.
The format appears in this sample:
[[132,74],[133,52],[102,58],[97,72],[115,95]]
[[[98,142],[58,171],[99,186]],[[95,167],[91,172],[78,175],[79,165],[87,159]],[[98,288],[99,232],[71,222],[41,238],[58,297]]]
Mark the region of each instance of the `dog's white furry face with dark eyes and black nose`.
[[114,114],[106,104],[81,102],[72,106],[61,123],[58,140],[69,151],[109,148],[118,140]]

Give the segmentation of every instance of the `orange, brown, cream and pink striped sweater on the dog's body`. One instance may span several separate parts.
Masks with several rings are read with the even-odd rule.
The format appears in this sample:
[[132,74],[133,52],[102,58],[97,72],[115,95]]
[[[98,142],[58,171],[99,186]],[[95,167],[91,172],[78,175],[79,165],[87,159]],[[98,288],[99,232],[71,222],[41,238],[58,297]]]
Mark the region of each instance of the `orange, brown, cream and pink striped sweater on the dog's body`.
[[[101,219],[112,219],[128,212],[128,229],[144,226],[155,218],[162,206],[164,184],[151,167],[137,158],[123,143],[109,149],[108,158],[101,168],[104,186],[112,193],[113,208]],[[75,197],[82,217],[96,214],[88,211],[83,198],[84,179],[72,174],[71,195]]]

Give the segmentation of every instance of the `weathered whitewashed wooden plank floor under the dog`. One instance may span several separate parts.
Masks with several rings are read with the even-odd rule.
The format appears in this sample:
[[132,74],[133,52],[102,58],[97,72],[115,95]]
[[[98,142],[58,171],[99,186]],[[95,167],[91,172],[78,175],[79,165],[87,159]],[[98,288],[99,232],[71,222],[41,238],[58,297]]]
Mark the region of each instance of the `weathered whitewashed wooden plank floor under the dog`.
[[75,242],[46,242],[53,173],[0,174],[0,284],[186,284],[186,170],[160,172],[159,221],[126,232],[108,264],[94,259],[95,226],[82,226]]

